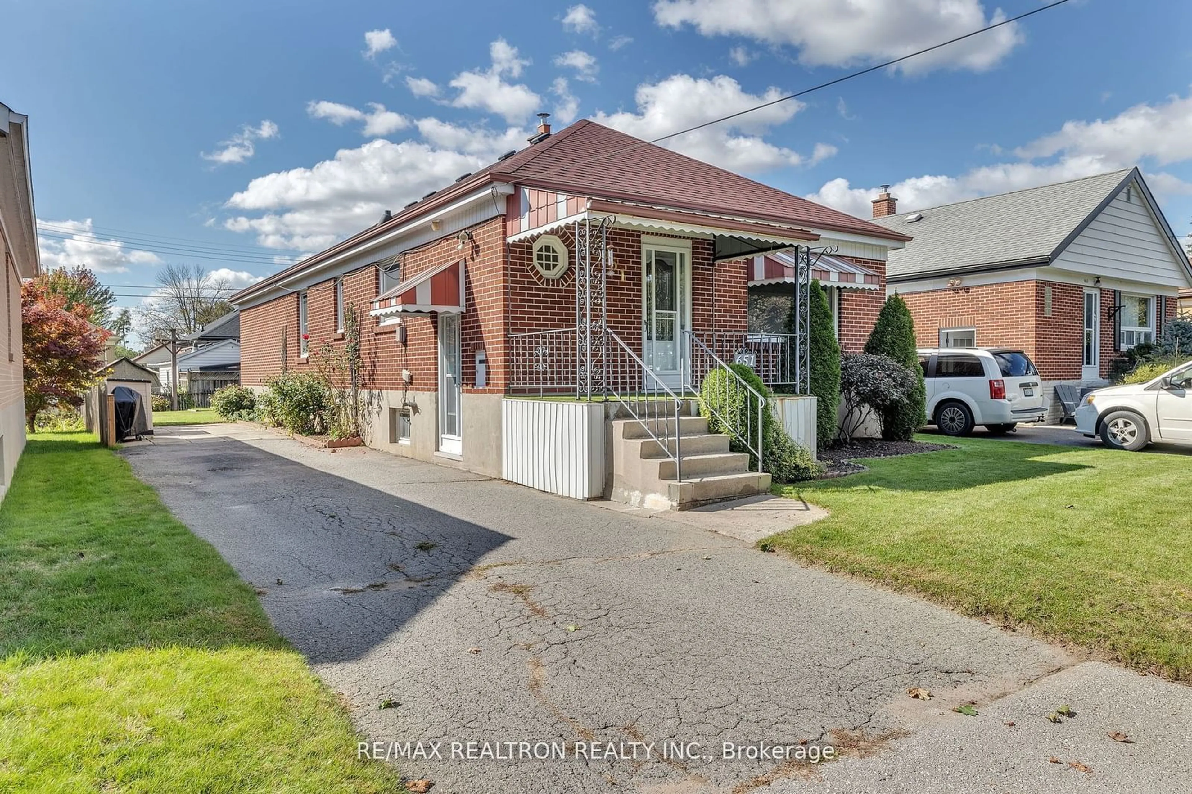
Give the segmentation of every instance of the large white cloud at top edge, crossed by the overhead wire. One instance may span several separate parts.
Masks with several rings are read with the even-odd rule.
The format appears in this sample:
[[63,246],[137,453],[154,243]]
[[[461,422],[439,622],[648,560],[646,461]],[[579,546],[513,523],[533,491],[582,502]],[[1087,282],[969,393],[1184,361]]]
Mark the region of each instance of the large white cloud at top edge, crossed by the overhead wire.
[[[799,49],[806,66],[846,67],[908,55],[993,23],[981,0],[658,0],[654,20],[691,25],[704,36],[744,36]],[[1023,41],[1017,23],[921,55],[898,66],[905,73],[938,67],[985,70]]]

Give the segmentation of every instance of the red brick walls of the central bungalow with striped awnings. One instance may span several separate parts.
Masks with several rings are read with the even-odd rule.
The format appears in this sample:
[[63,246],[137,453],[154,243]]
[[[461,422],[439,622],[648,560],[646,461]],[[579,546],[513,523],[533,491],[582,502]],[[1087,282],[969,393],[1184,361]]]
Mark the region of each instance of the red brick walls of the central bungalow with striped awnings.
[[[509,383],[507,335],[523,331],[573,327],[576,322],[575,241],[570,229],[557,232],[567,247],[569,268],[559,279],[547,280],[533,266],[533,243],[504,240],[505,219],[493,218],[472,227],[472,244],[459,249],[454,235],[406,253],[402,278],[451,261],[467,259],[466,306],[461,325],[465,391],[502,392]],[[652,235],[664,236],[664,235]],[[641,237],[634,230],[609,232],[613,267],[608,274],[608,324],[638,355],[641,355]],[[676,240],[683,240],[676,237]],[[696,331],[746,328],[747,273],[744,261],[713,266],[713,244],[691,240],[691,323]],[[344,300],[361,315],[361,356],[364,383],[370,389],[398,390],[402,370],[414,376],[411,389],[437,389],[437,316],[405,315],[405,345],[398,341],[396,325],[380,327],[368,317],[370,302],[377,297],[379,275],[366,267],[343,277]],[[315,367],[323,345],[339,347],[342,340],[335,324],[335,281],[327,279],[306,291],[308,329],[312,356],[299,356],[298,297],[286,294],[241,314],[241,378],[246,385],[262,385],[281,371],[283,343],[286,364],[292,370]],[[488,386],[476,390],[476,351],[486,353]],[[570,364],[573,366],[573,362]]]

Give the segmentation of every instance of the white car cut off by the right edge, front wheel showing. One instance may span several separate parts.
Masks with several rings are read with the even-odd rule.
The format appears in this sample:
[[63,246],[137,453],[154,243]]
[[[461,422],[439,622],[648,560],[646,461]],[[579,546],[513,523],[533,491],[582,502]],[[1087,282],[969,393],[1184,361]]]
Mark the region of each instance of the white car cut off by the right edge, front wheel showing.
[[1115,449],[1192,443],[1192,361],[1149,383],[1098,389],[1076,408],[1076,429]]

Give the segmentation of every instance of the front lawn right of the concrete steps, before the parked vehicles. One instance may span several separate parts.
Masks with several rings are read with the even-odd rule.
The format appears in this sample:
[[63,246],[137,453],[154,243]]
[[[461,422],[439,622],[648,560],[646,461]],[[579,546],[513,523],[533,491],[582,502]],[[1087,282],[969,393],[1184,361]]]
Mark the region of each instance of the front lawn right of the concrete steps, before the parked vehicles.
[[831,515],[768,542],[1192,681],[1192,454],[956,443],[776,488]]

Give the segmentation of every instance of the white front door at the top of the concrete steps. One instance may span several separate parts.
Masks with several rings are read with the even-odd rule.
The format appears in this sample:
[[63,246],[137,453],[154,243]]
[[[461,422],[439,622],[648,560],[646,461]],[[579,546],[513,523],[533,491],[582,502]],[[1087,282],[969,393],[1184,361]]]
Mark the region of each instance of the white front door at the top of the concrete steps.
[[647,243],[642,261],[642,360],[671,389],[683,386],[691,328],[691,254],[688,248]]

